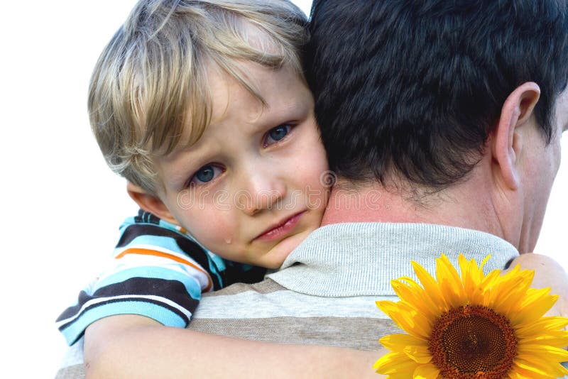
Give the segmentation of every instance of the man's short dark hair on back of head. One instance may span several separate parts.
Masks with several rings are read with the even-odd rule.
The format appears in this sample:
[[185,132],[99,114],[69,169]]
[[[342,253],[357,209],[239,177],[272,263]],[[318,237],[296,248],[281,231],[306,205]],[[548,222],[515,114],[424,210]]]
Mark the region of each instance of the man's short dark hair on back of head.
[[565,0],[315,0],[305,66],[330,169],[442,189],[479,161],[508,95],[567,84]]

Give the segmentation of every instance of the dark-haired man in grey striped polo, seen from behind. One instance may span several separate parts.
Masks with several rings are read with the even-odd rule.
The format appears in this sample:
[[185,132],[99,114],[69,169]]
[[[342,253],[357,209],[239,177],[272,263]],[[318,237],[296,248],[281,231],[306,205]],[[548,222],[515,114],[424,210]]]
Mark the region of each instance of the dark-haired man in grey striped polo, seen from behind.
[[[567,3],[316,1],[310,33],[337,173],[324,226],[263,282],[204,296],[190,329],[374,350],[397,330],[374,301],[410,260],[433,273],[440,253],[491,253],[491,270],[535,247],[568,127]],[[565,286],[562,268],[545,274]]]

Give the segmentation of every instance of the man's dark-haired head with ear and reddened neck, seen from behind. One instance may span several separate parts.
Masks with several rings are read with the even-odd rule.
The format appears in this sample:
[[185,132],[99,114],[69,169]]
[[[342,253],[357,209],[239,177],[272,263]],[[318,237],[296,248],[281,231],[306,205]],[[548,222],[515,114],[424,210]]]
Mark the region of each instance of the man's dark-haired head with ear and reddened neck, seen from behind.
[[465,226],[534,248],[568,124],[567,8],[315,1],[305,67],[330,169],[396,189],[359,221]]

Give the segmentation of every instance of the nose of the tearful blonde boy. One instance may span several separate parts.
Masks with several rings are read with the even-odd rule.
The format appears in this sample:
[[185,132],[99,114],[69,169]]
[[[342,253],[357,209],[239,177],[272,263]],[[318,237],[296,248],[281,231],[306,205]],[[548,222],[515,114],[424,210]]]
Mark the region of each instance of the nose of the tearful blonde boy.
[[256,165],[247,170],[238,199],[237,206],[249,216],[253,216],[263,209],[278,207],[286,195],[286,185],[273,167]]

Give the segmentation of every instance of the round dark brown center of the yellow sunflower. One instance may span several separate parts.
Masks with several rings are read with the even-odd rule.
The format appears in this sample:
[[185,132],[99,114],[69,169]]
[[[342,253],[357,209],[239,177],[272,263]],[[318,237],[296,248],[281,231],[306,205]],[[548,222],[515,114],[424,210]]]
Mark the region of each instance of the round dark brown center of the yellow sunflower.
[[487,307],[465,306],[437,320],[429,350],[444,378],[506,378],[517,338],[506,317]]

